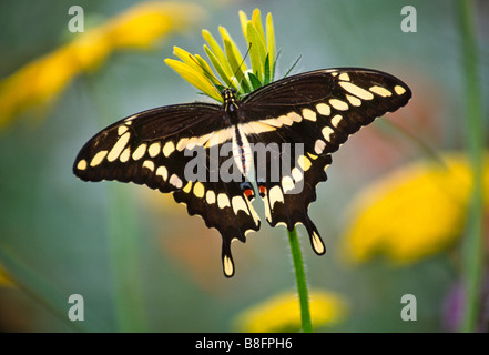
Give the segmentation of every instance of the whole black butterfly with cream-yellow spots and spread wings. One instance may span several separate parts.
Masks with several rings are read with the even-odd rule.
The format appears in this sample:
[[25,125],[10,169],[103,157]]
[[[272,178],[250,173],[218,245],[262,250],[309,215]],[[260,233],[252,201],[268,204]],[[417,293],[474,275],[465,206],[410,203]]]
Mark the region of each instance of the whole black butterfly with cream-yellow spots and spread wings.
[[[134,182],[173,193],[190,215],[203,216],[221,233],[227,277],[234,274],[231,242],[245,242],[248,232],[259,229],[253,181],[268,223],[291,231],[302,223],[314,251],[324,254],[307,210],[316,200],[317,183],[327,178],[330,154],[360,126],[411,98],[397,78],[357,68],[292,75],[242,100],[232,89],[222,94],[222,105],[167,105],[108,126],[82,148],[73,172],[85,181]],[[255,149],[258,145],[265,146],[265,154]],[[223,179],[224,173],[234,179]]]

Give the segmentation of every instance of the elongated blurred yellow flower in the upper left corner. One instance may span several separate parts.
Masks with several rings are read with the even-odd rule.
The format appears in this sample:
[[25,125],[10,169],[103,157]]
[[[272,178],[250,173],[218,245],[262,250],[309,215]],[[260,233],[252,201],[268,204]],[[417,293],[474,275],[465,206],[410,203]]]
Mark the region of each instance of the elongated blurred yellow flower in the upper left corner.
[[0,82],[0,129],[22,111],[51,103],[75,75],[94,70],[113,51],[149,49],[170,32],[182,32],[203,14],[195,4],[144,2],[77,36]]

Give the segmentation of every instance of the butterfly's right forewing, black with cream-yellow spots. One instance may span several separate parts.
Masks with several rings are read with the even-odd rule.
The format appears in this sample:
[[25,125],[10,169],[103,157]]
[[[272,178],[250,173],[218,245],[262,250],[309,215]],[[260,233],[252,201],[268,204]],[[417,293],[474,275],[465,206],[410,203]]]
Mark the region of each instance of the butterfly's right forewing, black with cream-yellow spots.
[[390,74],[345,68],[282,79],[245,98],[242,108],[257,132],[265,125],[277,134],[291,131],[308,151],[320,154],[336,151],[349,134],[410,97],[409,88]]

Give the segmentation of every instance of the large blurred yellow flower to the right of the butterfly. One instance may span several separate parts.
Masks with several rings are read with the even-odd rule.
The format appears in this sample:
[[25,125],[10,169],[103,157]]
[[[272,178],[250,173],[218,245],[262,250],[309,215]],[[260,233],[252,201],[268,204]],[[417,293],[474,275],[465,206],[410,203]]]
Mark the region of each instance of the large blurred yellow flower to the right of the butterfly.
[[[345,256],[363,262],[384,254],[406,264],[440,252],[463,232],[471,184],[470,163],[461,153],[444,154],[441,162],[420,161],[380,179],[353,203]],[[488,163],[483,184],[488,206]]]

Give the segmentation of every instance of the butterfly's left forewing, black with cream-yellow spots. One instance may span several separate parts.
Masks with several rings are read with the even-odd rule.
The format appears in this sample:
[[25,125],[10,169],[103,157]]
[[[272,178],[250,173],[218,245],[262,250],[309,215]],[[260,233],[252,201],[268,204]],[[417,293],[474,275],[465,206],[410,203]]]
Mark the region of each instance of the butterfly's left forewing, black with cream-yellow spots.
[[182,153],[186,141],[197,135],[205,144],[206,134],[224,122],[221,108],[213,104],[147,110],[93,136],[78,154],[73,172],[85,181],[131,181],[174,191],[183,187],[184,166],[191,159]]

